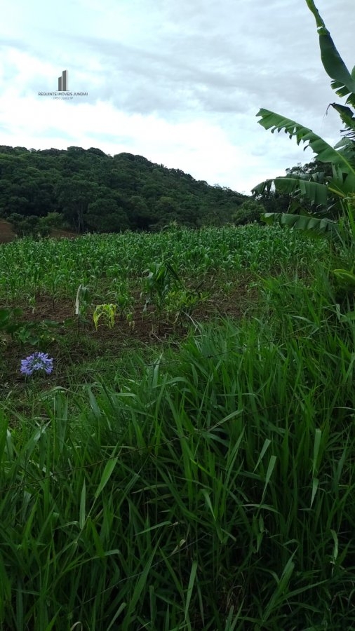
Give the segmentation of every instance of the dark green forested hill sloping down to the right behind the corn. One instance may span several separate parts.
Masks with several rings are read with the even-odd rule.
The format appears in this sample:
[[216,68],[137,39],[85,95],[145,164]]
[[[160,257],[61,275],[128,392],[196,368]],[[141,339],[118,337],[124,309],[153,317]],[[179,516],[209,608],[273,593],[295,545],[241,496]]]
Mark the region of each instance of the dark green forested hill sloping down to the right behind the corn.
[[52,219],[76,232],[219,226],[246,199],[143,156],[0,146],[0,216],[14,223],[57,212]]

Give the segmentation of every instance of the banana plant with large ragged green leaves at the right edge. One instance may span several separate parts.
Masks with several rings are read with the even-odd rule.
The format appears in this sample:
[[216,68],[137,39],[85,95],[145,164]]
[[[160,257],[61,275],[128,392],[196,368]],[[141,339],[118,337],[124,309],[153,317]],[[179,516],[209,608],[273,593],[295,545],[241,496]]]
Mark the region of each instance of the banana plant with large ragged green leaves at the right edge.
[[[258,196],[264,191],[275,190],[278,193],[290,195],[301,208],[302,201],[307,200],[314,208],[312,215],[302,213],[302,210],[301,215],[293,215],[290,212],[283,214],[272,212],[264,213],[262,219],[267,223],[279,222],[312,234],[334,237],[340,234],[340,224],[330,219],[330,215],[335,214],[340,217],[344,213],[354,212],[352,196],[355,193],[355,116],[351,107],[355,107],[355,67],[350,73],[335,48],[314,0],[306,0],[306,2],[316,20],[321,60],[324,69],[332,79],[331,86],[338,96],[347,97],[345,105],[330,104],[330,107],[338,112],[344,125],[342,138],[335,147],[332,147],[312,129],[290,118],[267,109],[260,109],[257,116],[260,116],[258,122],[265,129],[270,129],[272,133],[275,130],[278,132],[283,130],[290,138],[295,137],[297,144],[304,143],[304,149],[310,147],[318,161],[330,163],[333,177],[324,179],[321,173],[312,176],[276,177],[255,186],[253,194]],[[348,203],[349,198],[351,198],[351,203]]]

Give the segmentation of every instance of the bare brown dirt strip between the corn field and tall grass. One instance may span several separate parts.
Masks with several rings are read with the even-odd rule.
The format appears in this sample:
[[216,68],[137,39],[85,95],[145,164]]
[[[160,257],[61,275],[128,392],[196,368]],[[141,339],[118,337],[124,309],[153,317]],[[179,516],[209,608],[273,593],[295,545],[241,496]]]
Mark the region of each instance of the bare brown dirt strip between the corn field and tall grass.
[[[192,313],[191,318],[180,315],[178,320],[170,321],[162,316],[159,320],[153,308],[142,314],[142,301],[137,300],[133,313],[134,326],[130,326],[124,318],[116,317],[114,327],[110,329],[102,318],[99,321],[98,330],[93,323],[93,308],[87,315],[87,322],[78,323],[74,315],[74,301],[60,298],[54,301],[51,297],[36,296],[34,308],[28,304],[16,304],[22,308],[22,315],[18,320],[21,323],[41,323],[43,320],[51,320],[61,323],[59,327],[46,329],[46,337],[43,343],[22,343],[13,340],[8,335],[0,335],[2,349],[0,351],[0,383],[7,384],[11,388],[17,384],[23,384],[24,375],[20,373],[22,359],[34,353],[42,351],[55,358],[55,371],[51,375],[51,386],[67,386],[68,365],[80,367],[88,362],[95,362],[98,358],[107,357],[109,362],[114,358],[121,358],[123,352],[132,351],[147,346],[178,346],[185,339],[192,323],[206,322],[220,317],[241,318],[246,313],[250,304],[256,299],[256,293],[248,290],[246,280],[233,288],[232,292],[219,295],[215,299],[209,299],[199,305]],[[5,305],[0,305],[4,307]],[[11,306],[7,304],[6,307]],[[63,323],[69,320],[65,326]],[[53,332],[52,332],[53,331]],[[42,377],[41,377],[42,379]],[[48,376],[43,374],[43,380]]]

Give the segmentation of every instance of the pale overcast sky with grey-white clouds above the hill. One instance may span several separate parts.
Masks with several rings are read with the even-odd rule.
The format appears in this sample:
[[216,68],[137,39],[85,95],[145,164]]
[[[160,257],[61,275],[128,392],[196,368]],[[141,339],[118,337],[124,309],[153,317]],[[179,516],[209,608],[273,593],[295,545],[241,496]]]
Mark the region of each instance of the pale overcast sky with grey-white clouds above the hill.
[[[354,0],[316,0],[355,63]],[[3,0],[0,144],[129,151],[239,192],[309,162],[260,107],[339,140],[305,0]],[[39,92],[87,92],[55,100]]]

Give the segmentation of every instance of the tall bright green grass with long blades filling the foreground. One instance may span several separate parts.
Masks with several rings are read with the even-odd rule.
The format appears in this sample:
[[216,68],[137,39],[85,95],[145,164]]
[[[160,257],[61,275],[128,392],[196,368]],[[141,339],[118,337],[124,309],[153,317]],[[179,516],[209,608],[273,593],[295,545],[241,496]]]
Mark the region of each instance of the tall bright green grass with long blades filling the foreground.
[[262,292],[86,406],[46,393],[26,442],[4,407],[1,628],[355,627],[354,323],[321,277]]

